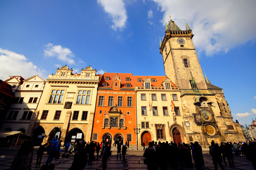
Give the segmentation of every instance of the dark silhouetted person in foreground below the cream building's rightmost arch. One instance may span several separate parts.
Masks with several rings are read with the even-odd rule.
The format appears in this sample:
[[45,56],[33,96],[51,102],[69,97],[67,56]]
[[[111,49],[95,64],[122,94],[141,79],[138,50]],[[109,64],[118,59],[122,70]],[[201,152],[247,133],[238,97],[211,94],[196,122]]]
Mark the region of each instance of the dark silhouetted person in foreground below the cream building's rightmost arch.
[[87,164],[87,152],[85,149],[85,141],[77,142],[77,151],[74,155],[74,160],[69,170],[83,170]]

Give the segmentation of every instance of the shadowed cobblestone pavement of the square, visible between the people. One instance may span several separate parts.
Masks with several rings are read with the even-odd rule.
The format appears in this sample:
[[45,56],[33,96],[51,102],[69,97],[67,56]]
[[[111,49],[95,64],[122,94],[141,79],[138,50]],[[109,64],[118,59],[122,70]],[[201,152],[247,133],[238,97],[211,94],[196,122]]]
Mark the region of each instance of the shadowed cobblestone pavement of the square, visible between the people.
[[[0,149],[0,169],[9,169],[13,160],[14,155],[17,153],[18,148],[12,148],[12,149]],[[121,160],[116,160],[116,148],[111,148],[112,155],[108,158],[107,162],[107,169],[123,169],[123,170],[128,170],[128,169],[140,169],[140,170],[146,170],[147,166],[143,163],[143,150],[142,147],[140,147],[138,150],[136,147],[130,147],[127,150],[127,155],[126,155],[126,164],[122,164]],[[34,151],[34,159],[33,159],[33,165],[32,169],[39,170],[40,167],[35,165],[36,163],[36,151],[37,148],[35,148]],[[62,152],[61,152],[62,154]],[[95,154],[96,155],[96,154]],[[207,151],[203,151],[204,155],[204,161],[205,161],[205,166],[203,169],[214,169],[214,166],[212,164],[212,159],[211,155]],[[53,164],[55,165],[55,169],[68,169],[72,162],[73,162],[74,156],[69,156],[68,158],[59,158],[59,159],[53,159]],[[43,156],[42,159],[42,164],[46,162],[47,155]],[[235,157],[234,159],[235,166],[230,167],[228,165],[224,165],[224,168],[229,170],[229,169],[246,169],[246,170],[253,170],[252,162],[249,160],[246,160],[245,156],[238,156]],[[41,164],[41,166],[42,166]],[[84,169],[92,169],[92,170],[100,170],[102,169],[102,164],[101,164],[101,159],[99,161],[94,161],[92,163],[93,165],[86,165]],[[194,164],[194,161],[193,161]],[[160,169],[160,168],[159,168]],[[170,167],[169,167],[170,169]],[[184,169],[184,170],[195,170],[195,166],[193,168],[185,168],[179,166],[178,169]],[[218,168],[220,169],[220,167]]]

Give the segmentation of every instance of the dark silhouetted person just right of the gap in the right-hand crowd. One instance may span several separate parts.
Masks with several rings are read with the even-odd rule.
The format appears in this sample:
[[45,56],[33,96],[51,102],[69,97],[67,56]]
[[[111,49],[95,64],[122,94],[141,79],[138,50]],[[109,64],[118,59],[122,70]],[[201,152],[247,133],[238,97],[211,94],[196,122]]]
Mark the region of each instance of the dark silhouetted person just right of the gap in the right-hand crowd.
[[225,168],[222,166],[221,159],[220,159],[220,154],[221,154],[220,147],[217,143],[215,144],[214,140],[212,140],[211,146],[209,147],[209,153],[212,156],[214,169],[217,170],[218,164],[219,164],[221,170],[225,170]]

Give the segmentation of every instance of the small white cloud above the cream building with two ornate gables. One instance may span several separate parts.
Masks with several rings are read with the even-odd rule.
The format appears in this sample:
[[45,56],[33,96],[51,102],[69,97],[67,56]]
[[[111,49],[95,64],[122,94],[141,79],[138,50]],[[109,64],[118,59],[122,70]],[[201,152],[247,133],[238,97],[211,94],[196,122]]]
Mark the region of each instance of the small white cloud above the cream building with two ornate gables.
[[68,64],[74,64],[74,60],[71,57],[75,55],[71,52],[69,48],[63,48],[61,45],[53,45],[51,43],[46,45],[46,49],[44,49],[44,55],[50,57],[57,57],[59,60],[63,62],[67,62]]

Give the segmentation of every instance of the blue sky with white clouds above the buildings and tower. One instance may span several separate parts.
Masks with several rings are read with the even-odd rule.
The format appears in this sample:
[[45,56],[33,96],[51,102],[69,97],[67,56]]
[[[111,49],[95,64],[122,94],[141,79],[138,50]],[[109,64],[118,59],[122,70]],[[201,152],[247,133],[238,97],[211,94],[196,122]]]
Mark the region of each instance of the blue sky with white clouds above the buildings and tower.
[[256,118],[256,2],[0,1],[0,79],[45,79],[63,65],[73,73],[165,75],[159,36],[169,15],[194,33],[207,78],[223,88],[234,120]]

